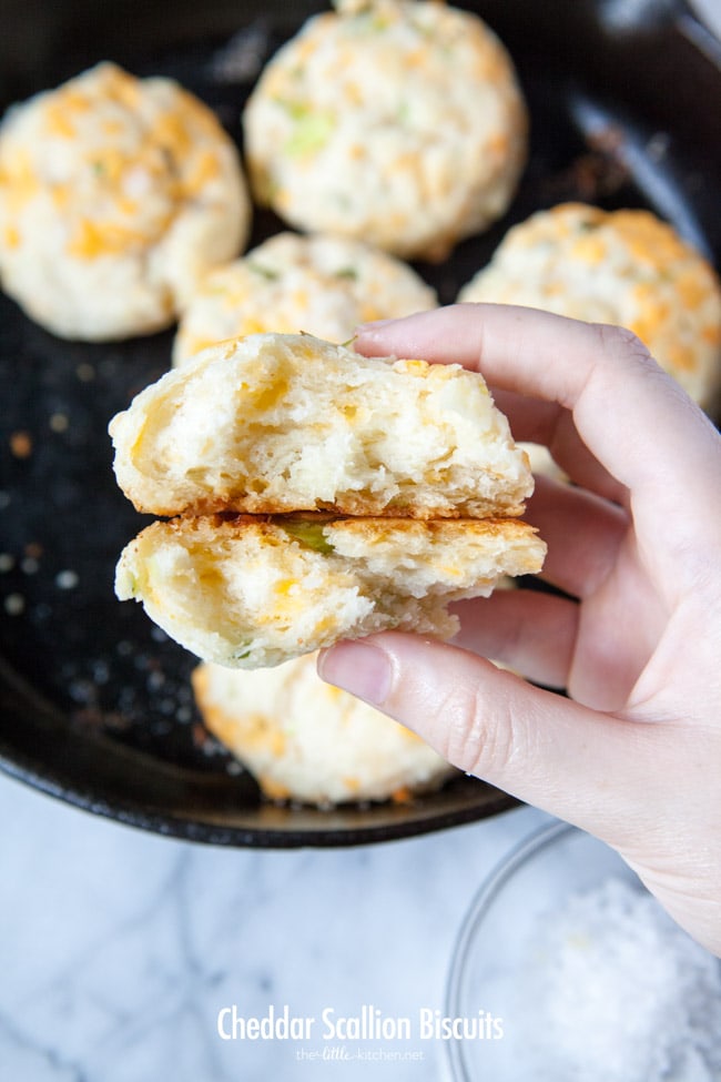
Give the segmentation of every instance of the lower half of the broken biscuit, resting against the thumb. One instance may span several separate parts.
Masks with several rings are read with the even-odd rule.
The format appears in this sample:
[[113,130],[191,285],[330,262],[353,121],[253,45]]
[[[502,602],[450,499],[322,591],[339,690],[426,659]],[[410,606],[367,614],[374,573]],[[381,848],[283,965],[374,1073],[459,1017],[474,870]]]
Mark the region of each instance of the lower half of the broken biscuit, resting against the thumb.
[[125,547],[115,593],[203,660],[257,668],[389,628],[449,638],[450,601],[545,553],[517,519],[174,518]]

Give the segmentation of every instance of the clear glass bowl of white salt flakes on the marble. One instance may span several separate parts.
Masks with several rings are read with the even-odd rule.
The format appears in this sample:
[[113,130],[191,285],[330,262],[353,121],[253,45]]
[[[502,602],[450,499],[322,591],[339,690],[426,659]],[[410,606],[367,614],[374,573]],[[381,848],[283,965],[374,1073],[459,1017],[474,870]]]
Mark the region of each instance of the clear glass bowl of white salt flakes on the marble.
[[444,1010],[454,1082],[721,1078],[721,961],[613,850],[562,822],[481,886]]

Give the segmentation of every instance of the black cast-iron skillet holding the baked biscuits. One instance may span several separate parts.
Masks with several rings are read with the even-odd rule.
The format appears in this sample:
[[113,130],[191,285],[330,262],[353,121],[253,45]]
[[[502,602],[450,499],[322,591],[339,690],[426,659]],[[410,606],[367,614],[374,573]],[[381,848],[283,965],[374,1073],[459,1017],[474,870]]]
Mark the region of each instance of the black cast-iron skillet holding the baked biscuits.
[[[509,225],[567,199],[649,206],[721,261],[721,65],[686,8],[460,6],[479,11],[516,61],[531,158],[501,222],[446,264],[418,267],[441,302]],[[240,143],[240,111],[260,67],[322,7],[0,2],[0,103],[112,59],[179,79]],[[257,214],[252,243],[282,227]],[[194,658],[112,590],[118,555],[145,520],[114,484],[108,421],[166,370],[171,341],[62,342],[0,296],[0,765],[89,810],[230,846],[382,841],[510,807],[498,790],[458,776],[408,807],[278,808],[206,736],[189,686]]]

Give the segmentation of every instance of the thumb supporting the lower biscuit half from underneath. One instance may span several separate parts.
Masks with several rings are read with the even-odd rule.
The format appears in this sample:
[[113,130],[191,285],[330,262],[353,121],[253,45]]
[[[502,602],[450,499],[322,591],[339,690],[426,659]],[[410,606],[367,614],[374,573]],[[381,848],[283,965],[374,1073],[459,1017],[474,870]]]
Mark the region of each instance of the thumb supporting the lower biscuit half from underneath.
[[318,673],[454,766],[612,845],[639,828],[653,725],[591,710],[458,647],[397,631],[322,651]]

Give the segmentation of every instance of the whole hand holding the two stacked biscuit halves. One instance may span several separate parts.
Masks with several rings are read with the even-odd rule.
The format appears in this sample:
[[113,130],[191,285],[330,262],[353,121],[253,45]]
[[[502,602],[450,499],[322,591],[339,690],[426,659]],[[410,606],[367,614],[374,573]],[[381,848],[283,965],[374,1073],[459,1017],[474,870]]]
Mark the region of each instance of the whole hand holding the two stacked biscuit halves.
[[603,839],[721,953],[721,437],[615,327],[464,304],[355,347],[479,370],[515,437],[551,449],[575,485],[539,479],[526,517],[570,596],[498,590],[458,606],[455,645],[388,631],[321,675]]

